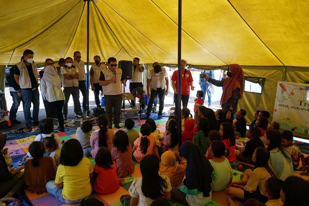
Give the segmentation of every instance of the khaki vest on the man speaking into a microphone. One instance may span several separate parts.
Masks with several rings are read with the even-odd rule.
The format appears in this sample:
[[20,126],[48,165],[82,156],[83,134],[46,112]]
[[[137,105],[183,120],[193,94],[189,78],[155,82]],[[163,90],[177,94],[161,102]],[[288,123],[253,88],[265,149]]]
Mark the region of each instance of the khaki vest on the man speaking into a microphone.
[[[114,77],[114,72],[112,72],[110,69],[106,68],[103,69],[103,74],[105,76],[105,81],[110,80]],[[116,68],[116,84],[114,82],[102,86],[103,87],[103,95],[120,95],[123,93],[122,91],[122,83],[121,83],[121,75],[122,70],[119,68]]]

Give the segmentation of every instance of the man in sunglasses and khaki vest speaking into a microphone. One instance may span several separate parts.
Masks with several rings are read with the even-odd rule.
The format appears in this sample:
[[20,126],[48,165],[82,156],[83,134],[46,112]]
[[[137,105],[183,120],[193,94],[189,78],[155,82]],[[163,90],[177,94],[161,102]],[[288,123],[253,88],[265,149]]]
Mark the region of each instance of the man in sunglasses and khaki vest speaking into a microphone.
[[103,86],[106,116],[108,117],[108,128],[112,128],[112,110],[114,108],[114,125],[120,128],[120,110],[122,103],[122,84],[125,83],[125,76],[122,70],[117,68],[117,60],[109,57],[108,68],[100,73],[99,84]]

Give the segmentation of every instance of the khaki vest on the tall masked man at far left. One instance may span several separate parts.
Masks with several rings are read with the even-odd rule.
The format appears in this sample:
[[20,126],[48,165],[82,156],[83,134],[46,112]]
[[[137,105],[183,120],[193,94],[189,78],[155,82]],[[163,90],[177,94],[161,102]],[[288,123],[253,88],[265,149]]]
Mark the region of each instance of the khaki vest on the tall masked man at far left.
[[[20,75],[19,75],[19,86],[21,89],[28,89],[32,88],[31,80],[29,77],[28,69],[23,61],[20,61],[16,64],[16,66],[19,69]],[[32,71],[34,74],[34,77],[36,78],[36,82],[38,82],[38,70],[35,63],[31,63]],[[39,85],[39,82],[38,82]]]

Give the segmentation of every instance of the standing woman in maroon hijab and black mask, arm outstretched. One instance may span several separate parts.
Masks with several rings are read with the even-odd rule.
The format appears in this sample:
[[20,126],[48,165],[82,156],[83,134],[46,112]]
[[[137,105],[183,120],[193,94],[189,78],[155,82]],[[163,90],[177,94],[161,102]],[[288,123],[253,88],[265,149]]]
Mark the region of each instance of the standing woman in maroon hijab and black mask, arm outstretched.
[[238,100],[243,96],[243,69],[238,64],[231,64],[226,75],[228,77],[221,81],[212,79],[206,74],[204,77],[215,86],[224,86],[220,104],[225,121],[232,122],[232,118],[237,112]]

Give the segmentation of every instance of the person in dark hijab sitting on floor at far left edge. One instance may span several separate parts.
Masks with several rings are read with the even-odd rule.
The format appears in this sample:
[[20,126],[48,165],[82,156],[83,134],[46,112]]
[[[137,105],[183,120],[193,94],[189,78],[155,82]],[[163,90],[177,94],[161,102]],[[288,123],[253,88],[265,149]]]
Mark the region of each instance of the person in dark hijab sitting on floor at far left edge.
[[25,179],[22,177],[14,177],[19,174],[24,166],[9,172],[5,158],[3,155],[7,154],[7,149],[3,149],[6,144],[6,134],[0,134],[0,202],[20,202],[19,199],[14,198],[15,194],[21,195],[25,185]]

